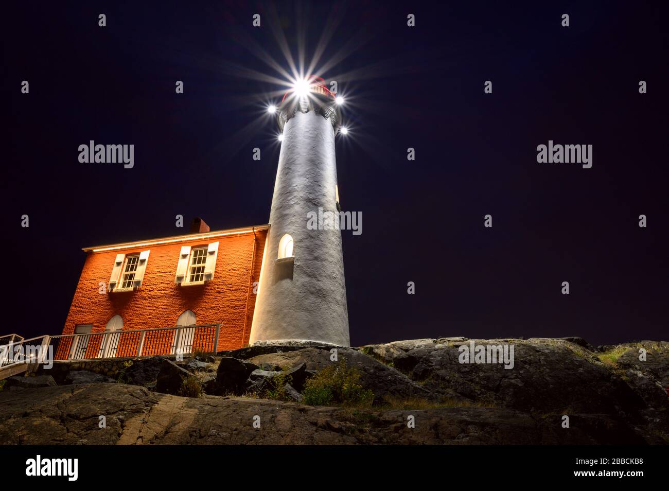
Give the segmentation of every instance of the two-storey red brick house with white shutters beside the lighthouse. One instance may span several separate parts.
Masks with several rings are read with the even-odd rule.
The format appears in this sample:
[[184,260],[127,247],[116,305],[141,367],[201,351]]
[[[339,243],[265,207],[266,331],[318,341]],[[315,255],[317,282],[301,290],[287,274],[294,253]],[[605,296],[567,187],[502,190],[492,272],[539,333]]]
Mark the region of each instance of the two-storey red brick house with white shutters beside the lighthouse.
[[63,334],[116,334],[61,338],[56,359],[133,356],[140,343],[142,355],[190,353],[207,344],[204,337],[213,347],[213,325],[126,332],[173,326],[220,324],[217,351],[248,344],[269,225],[209,231],[195,219],[193,227],[188,235],[84,248]]

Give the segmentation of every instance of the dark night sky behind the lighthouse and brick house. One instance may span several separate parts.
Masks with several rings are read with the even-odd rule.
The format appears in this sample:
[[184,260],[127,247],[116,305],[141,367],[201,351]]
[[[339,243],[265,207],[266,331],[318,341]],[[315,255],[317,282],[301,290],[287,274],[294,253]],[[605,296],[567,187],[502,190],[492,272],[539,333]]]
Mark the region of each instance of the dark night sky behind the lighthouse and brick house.
[[[248,49],[288,68],[270,24],[296,56],[306,23],[309,58],[339,19],[324,59],[355,50],[321,75],[358,74],[339,80],[337,143],[341,201],[363,212],[343,232],[353,345],[668,339],[666,2],[464,3],[4,5],[2,334],[61,332],[84,246],[177,235],[177,214],[266,223],[279,147],[261,101],[278,87],[231,67],[277,75]],[[79,163],[91,139],[134,144],[134,169]],[[549,139],[592,144],[592,169],[538,164]]]

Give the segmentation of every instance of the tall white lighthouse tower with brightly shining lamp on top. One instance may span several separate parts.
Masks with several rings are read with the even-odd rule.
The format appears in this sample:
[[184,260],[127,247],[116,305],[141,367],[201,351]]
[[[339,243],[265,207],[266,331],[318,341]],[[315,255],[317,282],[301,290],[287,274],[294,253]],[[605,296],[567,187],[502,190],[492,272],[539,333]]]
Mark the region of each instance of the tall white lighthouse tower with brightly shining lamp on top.
[[284,95],[282,130],[250,342],[304,340],[348,347],[341,230],[308,225],[339,211],[334,135],[341,113],[320,78]]

